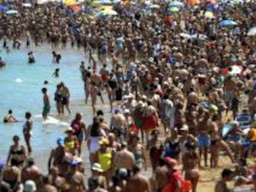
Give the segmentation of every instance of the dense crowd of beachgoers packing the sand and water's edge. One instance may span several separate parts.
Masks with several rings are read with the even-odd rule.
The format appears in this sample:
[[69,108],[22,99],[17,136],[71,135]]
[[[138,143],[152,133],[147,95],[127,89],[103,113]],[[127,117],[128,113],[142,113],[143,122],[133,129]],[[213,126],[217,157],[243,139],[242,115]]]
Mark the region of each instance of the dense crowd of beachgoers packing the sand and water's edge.
[[[231,180],[234,187],[256,191],[256,175],[247,163],[256,141],[256,32],[248,35],[256,25],[255,1],[109,2],[111,8],[102,9],[116,14],[102,17],[93,14],[100,11],[98,4],[83,2],[79,10],[57,2],[4,4],[17,10],[0,15],[7,52],[10,42],[20,49],[24,39],[30,49],[32,41],[35,46],[46,41],[53,49],[69,42],[83,48],[88,63],[81,62],[80,73],[94,117],[83,122],[83,114],[75,114],[44,175],[33,159],[32,114],[26,112],[26,147],[13,137],[6,164],[0,164],[0,191],[200,192],[200,170],[220,167],[223,151],[234,170],[223,170],[215,192],[231,191]],[[52,53],[53,63],[60,64],[61,54]],[[35,62],[33,52],[28,62]],[[7,66],[0,58],[0,69]],[[41,91],[46,120],[51,98],[47,88]],[[105,103],[105,93],[110,124],[96,105],[98,97]],[[54,94],[59,115],[64,107],[71,113],[69,100],[61,82]],[[240,114],[252,119],[245,129]],[[4,122],[14,121],[9,111]],[[91,175],[80,158],[85,146]],[[148,168],[150,178],[142,172]]]

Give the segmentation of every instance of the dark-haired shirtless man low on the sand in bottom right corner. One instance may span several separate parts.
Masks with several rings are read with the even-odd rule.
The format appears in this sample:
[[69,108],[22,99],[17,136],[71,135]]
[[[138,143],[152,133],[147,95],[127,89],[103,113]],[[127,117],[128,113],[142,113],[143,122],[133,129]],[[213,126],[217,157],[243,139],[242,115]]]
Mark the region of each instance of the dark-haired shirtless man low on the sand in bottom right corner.
[[232,180],[233,172],[229,169],[224,169],[221,173],[221,180],[215,185],[215,192],[231,192],[232,190],[228,188],[227,183]]

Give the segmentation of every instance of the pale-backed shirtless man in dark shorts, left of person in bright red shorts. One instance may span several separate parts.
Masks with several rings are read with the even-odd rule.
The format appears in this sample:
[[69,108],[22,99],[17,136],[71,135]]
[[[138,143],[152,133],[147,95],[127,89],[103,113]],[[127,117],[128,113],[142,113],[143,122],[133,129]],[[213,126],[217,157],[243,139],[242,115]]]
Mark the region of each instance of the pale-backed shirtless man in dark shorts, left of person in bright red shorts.
[[126,122],[126,117],[124,117],[123,114],[121,114],[120,109],[115,109],[114,114],[111,117],[110,120],[110,128],[114,132],[117,131],[118,137],[122,140],[124,136],[127,138],[127,122]]

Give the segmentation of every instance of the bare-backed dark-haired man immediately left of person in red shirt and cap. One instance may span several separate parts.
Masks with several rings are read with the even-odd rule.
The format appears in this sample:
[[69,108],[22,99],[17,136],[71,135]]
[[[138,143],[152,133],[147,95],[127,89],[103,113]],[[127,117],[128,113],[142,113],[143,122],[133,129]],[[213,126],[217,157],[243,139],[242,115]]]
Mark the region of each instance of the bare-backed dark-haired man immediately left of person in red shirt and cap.
[[155,170],[155,182],[157,192],[163,191],[164,186],[168,184],[168,168],[165,166],[164,160],[160,159],[159,165],[156,167]]

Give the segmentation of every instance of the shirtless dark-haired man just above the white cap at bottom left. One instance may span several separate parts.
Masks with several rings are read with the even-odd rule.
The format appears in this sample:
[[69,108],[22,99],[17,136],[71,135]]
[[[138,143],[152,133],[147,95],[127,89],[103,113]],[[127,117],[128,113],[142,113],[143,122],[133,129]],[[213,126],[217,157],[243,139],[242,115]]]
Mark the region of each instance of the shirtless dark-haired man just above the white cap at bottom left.
[[39,184],[41,170],[35,165],[33,157],[28,157],[28,165],[22,170],[22,183],[27,180],[33,180],[37,185]]

